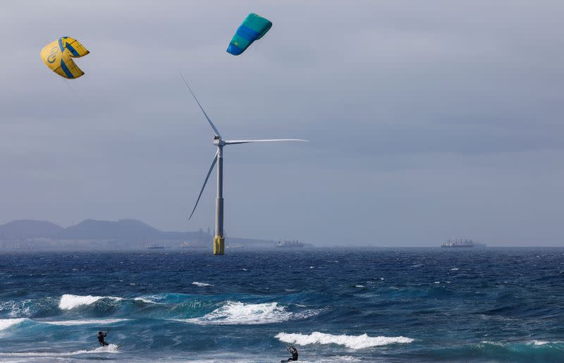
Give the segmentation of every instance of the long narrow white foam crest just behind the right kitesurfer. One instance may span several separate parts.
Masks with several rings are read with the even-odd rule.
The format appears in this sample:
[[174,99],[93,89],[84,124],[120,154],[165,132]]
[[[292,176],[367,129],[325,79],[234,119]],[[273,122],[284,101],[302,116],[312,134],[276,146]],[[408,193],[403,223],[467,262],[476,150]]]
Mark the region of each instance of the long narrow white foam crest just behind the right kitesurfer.
[[281,342],[290,344],[337,344],[344,345],[345,347],[348,347],[350,349],[364,349],[369,347],[377,347],[380,345],[411,343],[413,341],[412,338],[405,338],[403,336],[371,337],[367,334],[362,334],[362,336],[333,336],[332,334],[319,333],[319,331],[315,331],[311,334],[278,333],[276,334],[275,338],[278,338],[278,340],[280,340]]

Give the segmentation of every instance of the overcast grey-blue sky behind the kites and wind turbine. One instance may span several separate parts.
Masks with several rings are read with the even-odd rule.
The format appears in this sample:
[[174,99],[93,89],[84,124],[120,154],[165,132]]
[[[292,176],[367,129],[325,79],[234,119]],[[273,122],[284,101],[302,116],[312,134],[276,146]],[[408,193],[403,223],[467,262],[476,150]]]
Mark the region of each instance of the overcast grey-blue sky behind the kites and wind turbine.
[[[234,4],[237,2],[238,4]],[[226,53],[247,13],[274,25]],[[140,219],[317,245],[564,245],[563,1],[9,1],[0,223]],[[63,80],[61,36],[90,54]]]

